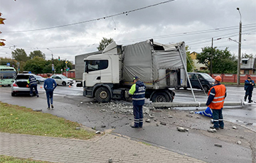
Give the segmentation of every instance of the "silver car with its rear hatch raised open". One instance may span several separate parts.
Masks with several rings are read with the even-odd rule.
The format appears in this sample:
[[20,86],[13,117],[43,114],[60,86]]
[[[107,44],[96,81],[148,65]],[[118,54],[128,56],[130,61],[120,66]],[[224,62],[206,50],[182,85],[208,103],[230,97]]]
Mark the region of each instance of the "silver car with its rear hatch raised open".
[[[16,96],[16,94],[29,94],[30,88],[28,86],[28,78],[31,74],[17,74],[14,83],[11,84],[11,96]],[[33,94],[36,94],[33,89]]]

